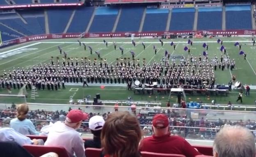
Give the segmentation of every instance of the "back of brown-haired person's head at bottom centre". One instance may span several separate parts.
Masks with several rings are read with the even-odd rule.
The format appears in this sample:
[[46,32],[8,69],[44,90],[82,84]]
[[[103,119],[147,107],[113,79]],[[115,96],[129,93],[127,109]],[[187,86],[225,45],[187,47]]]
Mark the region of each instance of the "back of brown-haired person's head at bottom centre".
[[140,157],[142,130],[138,119],[128,112],[111,113],[101,132],[105,157]]

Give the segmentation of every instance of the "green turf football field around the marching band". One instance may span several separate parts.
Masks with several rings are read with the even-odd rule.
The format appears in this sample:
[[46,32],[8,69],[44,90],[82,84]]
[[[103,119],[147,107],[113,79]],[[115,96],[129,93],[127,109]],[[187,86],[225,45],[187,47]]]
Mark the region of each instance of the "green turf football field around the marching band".
[[[184,55],[188,57],[188,53],[185,52],[184,46],[187,46],[187,39],[176,39],[176,40],[163,40],[165,43],[163,47],[156,39],[135,39],[136,47],[131,44],[130,38],[106,38],[108,42],[108,47],[103,44],[103,38],[101,39],[80,39],[81,42],[85,42],[85,44],[91,46],[94,51],[99,51],[101,53],[101,57],[107,59],[108,63],[114,64],[117,58],[131,58],[130,50],[135,52],[135,59],[140,59],[142,62],[143,58],[146,59],[146,64],[150,65],[154,61],[160,62],[162,56],[165,54],[165,50],[167,50],[171,56],[181,56]],[[235,59],[236,68],[233,71],[225,69],[221,71],[221,69],[217,69],[215,71],[216,82],[215,84],[228,84],[229,80],[231,80],[231,75],[236,75],[237,80],[242,82],[242,84],[250,84],[256,85],[256,55],[254,54],[256,51],[256,46],[253,46],[251,43],[251,38],[223,38],[224,46],[226,47],[227,53],[229,54],[231,60]],[[114,46],[112,42],[115,41],[117,43],[117,50],[114,50]],[[176,44],[176,51],[174,51],[173,47],[170,46],[171,41]],[[199,57],[202,55],[204,48],[202,47],[203,42],[206,42],[209,45],[208,55],[209,59],[213,58],[214,55],[217,55],[218,58],[224,53],[222,53],[220,49],[220,44],[217,44],[217,39],[193,39],[194,42],[191,49],[191,54],[194,57]],[[238,41],[242,44],[242,50],[247,54],[247,60],[244,60],[243,55],[239,55],[238,47],[234,46],[234,43]],[[141,42],[144,42],[146,45],[146,49],[143,50],[143,46]],[[154,54],[153,45],[155,45],[158,49],[157,55]],[[7,72],[13,68],[24,67],[28,68],[30,66],[40,64],[40,63],[48,63],[50,62],[50,57],[54,58],[63,56],[59,54],[59,50],[57,46],[60,46],[63,51],[68,54],[68,57],[87,57],[91,60],[94,58],[98,58],[95,53],[90,55],[89,49],[87,51],[84,50],[83,46],[79,46],[77,39],[56,39],[56,40],[42,40],[36,42],[28,42],[25,44],[15,45],[11,47],[7,47],[5,49],[0,50],[1,53],[5,53],[7,55],[6,58],[2,58],[0,60],[0,75],[2,75],[3,70]],[[124,54],[121,55],[121,51],[118,47],[121,46],[124,49]],[[13,51],[22,51],[25,52],[14,55]],[[10,55],[10,56],[8,56]],[[62,60],[60,59],[60,62]],[[177,63],[177,61],[176,61]],[[91,95],[94,96],[96,93],[101,93],[101,97],[103,100],[127,100],[128,96],[131,96],[133,100],[142,100],[142,101],[160,101],[165,104],[167,102],[169,95],[160,95],[155,93],[154,95],[134,95],[133,91],[127,91],[124,87],[109,87],[106,86],[105,89],[101,89],[99,86],[90,86],[88,88],[82,88],[81,86],[67,86],[66,90],[59,91],[38,91],[39,97],[36,100],[31,100],[30,96],[28,96],[28,102],[43,102],[43,103],[68,103],[69,96],[73,95],[74,92],[69,91],[70,88],[78,88],[78,91],[74,95],[74,99],[82,99],[83,96]],[[0,93],[7,93],[6,89],[0,88]],[[12,94],[18,93],[18,91],[12,91]],[[28,90],[30,94],[30,91]],[[187,98],[190,98],[191,101],[197,101],[198,98],[203,100],[203,102],[210,103],[212,99],[216,99],[218,103],[226,104],[229,100],[235,103],[235,99],[237,98],[238,92],[234,91],[229,93],[228,97],[221,96],[213,96],[213,97],[205,97],[205,96],[190,96],[187,95]],[[256,98],[256,93],[251,90],[251,95],[249,97],[244,97],[243,104],[254,104],[254,100]],[[171,98],[171,102],[175,102],[176,97]]]

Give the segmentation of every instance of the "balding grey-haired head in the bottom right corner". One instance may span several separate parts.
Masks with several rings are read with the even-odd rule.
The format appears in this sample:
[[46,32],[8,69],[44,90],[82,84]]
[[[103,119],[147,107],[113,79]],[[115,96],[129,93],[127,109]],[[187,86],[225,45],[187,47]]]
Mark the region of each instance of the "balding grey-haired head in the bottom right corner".
[[226,125],[213,143],[214,157],[255,157],[254,135],[242,126]]

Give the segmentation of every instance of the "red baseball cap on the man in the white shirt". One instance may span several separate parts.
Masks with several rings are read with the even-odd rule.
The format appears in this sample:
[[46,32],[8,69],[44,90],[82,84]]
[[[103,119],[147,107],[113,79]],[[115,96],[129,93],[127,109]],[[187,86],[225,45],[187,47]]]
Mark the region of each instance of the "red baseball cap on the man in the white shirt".
[[81,110],[71,110],[69,113],[66,115],[66,120],[69,123],[77,123],[82,120],[86,120],[88,118],[87,113],[82,112]]

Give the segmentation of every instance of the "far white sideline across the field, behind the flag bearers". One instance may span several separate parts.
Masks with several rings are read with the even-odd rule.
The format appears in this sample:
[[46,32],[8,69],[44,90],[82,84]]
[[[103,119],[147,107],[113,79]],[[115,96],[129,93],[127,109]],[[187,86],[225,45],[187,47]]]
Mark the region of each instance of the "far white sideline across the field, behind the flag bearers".
[[[217,43],[217,41],[193,41],[193,43],[204,43],[204,42],[207,42],[207,43]],[[224,41],[225,42],[251,42],[251,40],[240,40],[240,41]],[[73,43],[78,43],[78,42],[41,42],[43,44],[73,44]],[[82,42],[82,43],[85,43],[85,44],[103,44],[103,42]],[[132,44],[132,42],[116,42],[117,44]],[[160,42],[143,42],[144,44],[158,44]],[[171,43],[170,42],[163,42],[163,43]],[[186,44],[187,42],[184,41],[184,42],[176,42],[176,43],[181,43],[181,44]]]

